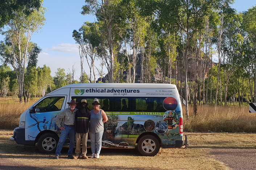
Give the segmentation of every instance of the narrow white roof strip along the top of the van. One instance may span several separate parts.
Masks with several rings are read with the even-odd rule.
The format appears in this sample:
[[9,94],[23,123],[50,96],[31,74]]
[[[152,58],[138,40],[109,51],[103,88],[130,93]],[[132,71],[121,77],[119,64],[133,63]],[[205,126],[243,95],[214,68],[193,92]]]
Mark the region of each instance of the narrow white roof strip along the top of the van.
[[162,83],[77,83],[62,88],[175,88],[174,84]]

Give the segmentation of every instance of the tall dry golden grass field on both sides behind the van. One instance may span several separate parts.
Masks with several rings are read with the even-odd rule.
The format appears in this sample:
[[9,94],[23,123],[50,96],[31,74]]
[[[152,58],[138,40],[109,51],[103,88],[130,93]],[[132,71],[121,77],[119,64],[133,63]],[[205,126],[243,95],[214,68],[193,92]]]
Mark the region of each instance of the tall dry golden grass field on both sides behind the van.
[[[0,98],[0,128],[18,127],[22,112],[38,99],[28,103],[19,103],[18,99]],[[198,106],[197,116],[193,115],[193,106],[189,107],[189,119],[183,109],[185,132],[256,132],[256,113],[249,113],[249,106]],[[132,137],[129,135],[129,138]]]

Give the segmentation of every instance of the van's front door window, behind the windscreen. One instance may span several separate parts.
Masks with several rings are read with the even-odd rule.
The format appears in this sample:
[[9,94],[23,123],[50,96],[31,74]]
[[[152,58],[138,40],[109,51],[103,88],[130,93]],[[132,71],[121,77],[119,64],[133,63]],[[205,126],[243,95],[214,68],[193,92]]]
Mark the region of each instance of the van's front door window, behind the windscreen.
[[50,112],[50,111],[59,111],[63,105],[65,97],[56,96],[56,97],[48,97],[39,102],[36,105],[36,112]]

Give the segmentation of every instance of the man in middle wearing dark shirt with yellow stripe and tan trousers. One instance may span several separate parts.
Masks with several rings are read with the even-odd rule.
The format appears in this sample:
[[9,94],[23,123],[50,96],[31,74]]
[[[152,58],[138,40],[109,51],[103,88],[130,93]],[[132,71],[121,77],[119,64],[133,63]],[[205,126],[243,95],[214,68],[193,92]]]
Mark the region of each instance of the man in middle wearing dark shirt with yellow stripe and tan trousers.
[[[90,110],[87,107],[88,103],[86,99],[82,99],[80,103],[80,108],[75,113],[75,142],[77,144],[75,148],[74,159],[88,159],[87,153],[87,139],[88,139],[88,129],[90,121]],[[82,152],[81,152],[81,142],[82,142]],[[81,156],[81,157],[80,157]]]

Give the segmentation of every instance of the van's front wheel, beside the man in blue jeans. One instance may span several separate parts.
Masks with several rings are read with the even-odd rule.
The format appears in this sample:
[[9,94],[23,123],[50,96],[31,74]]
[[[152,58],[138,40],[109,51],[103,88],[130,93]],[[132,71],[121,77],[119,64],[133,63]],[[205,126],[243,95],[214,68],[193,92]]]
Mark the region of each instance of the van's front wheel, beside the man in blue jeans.
[[59,138],[52,133],[45,133],[37,141],[38,150],[42,153],[55,153]]

